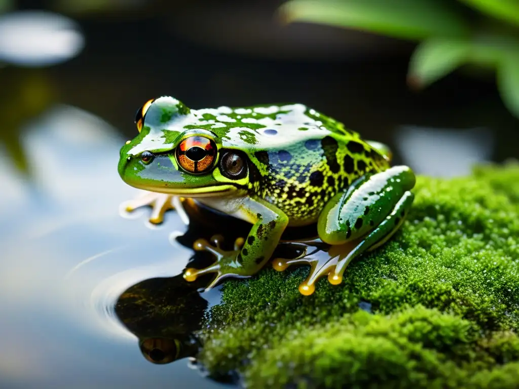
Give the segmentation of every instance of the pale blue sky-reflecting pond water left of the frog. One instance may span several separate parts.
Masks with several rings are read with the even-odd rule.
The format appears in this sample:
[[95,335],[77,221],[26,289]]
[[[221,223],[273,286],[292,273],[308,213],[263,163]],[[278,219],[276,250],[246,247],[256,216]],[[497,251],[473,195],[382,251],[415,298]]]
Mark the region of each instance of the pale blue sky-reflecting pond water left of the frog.
[[[139,194],[117,174],[125,139],[69,106],[25,130],[31,179],[0,154],[0,387],[226,386],[190,368],[185,348],[173,363],[150,362],[176,356],[177,343],[155,333],[186,335],[219,296],[217,288],[198,294],[182,284],[193,251],[175,239],[187,230],[179,214],[157,227],[147,222],[149,209],[119,211]],[[119,298],[142,281],[190,288],[168,295],[188,296],[189,309],[171,321],[142,318]]]

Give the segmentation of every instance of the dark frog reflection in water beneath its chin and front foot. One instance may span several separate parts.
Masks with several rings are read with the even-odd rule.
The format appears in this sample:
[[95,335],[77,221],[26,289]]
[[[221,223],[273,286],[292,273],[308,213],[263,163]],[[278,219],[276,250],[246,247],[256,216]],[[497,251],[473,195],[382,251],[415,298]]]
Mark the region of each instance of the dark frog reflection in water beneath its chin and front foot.
[[[229,242],[242,233],[246,223],[210,212],[192,200],[182,202],[182,213],[188,218],[187,231],[172,232],[170,242],[191,250],[199,238],[215,234],[219,226],[226,226]],[[177,212],[175,212],[176,214]],[[146,213],[146,216],[149,216]],[[169,213],[166,216],[170,216]],[[189,267],[206,267],[213,258],[208,252],[194,252],[189,257]],[[175,360],[196,356],[201,343],[196,331],[202,328],[204,313],[219,302],[218,288],[202,294],[212,275],[194,282],[184,280],[182,274],[173,277],[154,277],[130,286],[120,294],[115,313],[128,330],[139,339],[139,348],[146,360],[154,364],[168,364]],[[209,300],[209,301],[208,301]]]

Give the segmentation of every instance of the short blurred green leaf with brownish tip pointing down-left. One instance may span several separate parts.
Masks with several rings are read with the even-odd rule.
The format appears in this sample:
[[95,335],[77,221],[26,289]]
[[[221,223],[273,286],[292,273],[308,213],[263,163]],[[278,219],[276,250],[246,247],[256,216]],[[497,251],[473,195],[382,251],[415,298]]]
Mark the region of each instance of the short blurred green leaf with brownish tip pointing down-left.
[[421,43],[411,57],[407,82],[424,88],[467,62],[471,43],[466,40],[429,39]]

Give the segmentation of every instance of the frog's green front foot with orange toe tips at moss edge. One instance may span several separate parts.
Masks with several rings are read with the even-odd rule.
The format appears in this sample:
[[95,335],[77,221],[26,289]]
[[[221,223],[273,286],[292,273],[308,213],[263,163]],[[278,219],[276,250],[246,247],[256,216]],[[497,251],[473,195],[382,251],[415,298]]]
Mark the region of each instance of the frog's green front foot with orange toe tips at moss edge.
[[216,261],[207,268],[203,268],[200,270],[194,268],[187,268],[184,272],[184,279],[186,281],[193,282],[201,275],[208,273],[216,273],[215,279],[206,288],[206,290],[208,290],[227,277],[249,277],[246,275],[241,275],[239,273],[233,272],[233,269],[238,269],[241,267],[237,258],[240,254],[241,247],[245,242],[243,238],[236,239],[236,241],[234,242],[234,249],[231,251],[225,251],[222,248],[222,243],[224,241],[224,237],[222,235],[213,235],[210,241],[211,242],[208,242],[205,239],[198,239],[193,244],[193,248],[196,251],[207,251],[213,254],[216,257]]

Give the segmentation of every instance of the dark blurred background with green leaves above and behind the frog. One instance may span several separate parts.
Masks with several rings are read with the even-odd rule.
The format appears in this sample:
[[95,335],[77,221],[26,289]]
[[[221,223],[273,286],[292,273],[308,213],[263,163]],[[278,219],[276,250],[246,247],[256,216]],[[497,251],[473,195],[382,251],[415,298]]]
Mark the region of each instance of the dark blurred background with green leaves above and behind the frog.
[[[0,140],[57,105],[133,137],[143,102],[301,102],[434,175],[517,157],[515,0],[0,0]],[[72,127],[71,132],[75,131]]]

